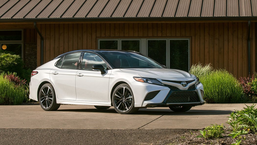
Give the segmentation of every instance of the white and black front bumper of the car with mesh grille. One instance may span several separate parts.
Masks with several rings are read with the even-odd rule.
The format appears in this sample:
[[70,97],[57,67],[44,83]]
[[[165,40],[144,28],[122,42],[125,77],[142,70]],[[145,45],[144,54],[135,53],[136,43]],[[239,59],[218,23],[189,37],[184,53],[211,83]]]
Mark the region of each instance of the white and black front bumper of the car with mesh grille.
[[[181,90],[173,89],[172,87],[154,85],[142,82],[133,82],[130,86],[133,90],[135,107],[147,108],[147,107],[169,107],[169,106],[196,106],[203,105],[205,101],[203,100],[203,85],[200,83],[192,89]],[[149,92],[159,91],[159,93],[151,100],[145,101],[145,97]],[[174,94],[179,94],[175,96]],[[183,96],[183,93],[186,95]],[[188,94],[189,93],[189,94]],[[181,95],[182,94],[182,95]],[[191,99],[190,94],[194,94],[194,98]],[[171,97],[171,98],[169,98]],[[182,100],[180,100],[180,98]],[[174,100],[174,101],[172,101]]]

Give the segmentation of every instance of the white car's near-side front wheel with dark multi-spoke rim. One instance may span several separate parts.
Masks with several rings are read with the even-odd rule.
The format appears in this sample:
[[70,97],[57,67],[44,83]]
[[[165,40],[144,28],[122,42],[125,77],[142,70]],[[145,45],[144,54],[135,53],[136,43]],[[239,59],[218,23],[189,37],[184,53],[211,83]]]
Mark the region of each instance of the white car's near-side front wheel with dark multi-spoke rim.
[[112,95],[114,109],[120,114],[132,114],[139,108],[134,107],[133,92],[128,84],[118,85]]

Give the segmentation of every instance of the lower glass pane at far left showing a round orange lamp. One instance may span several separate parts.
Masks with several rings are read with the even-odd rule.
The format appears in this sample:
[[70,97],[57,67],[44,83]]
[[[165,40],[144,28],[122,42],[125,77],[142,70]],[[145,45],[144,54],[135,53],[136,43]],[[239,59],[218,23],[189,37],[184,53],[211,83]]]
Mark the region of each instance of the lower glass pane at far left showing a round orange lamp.
[[1,44],[2,52],[11,52],[16,55],[22,56],[22,44]]

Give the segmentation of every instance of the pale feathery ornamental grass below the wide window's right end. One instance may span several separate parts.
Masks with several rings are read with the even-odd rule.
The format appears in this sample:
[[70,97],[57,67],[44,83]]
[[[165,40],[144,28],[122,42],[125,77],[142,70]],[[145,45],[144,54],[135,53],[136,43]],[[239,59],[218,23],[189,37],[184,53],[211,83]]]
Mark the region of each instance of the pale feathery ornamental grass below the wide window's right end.
[[204,66],[201,63],[197,63],[191,66],[189,73],[197,76],[198,78],[202,78],[210,74],[212,71],[213,71],[213,67],[210,63]]

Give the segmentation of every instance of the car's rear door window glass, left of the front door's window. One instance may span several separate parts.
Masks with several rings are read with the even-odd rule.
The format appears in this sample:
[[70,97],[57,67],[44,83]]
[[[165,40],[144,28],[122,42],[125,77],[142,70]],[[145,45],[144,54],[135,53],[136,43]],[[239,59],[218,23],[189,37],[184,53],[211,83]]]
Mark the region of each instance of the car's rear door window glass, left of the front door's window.
[[68,54],[64,57],[62,63],[62,69],[77,69],[77,64],[79,60],[80,52],[79,53],[72,53]]

